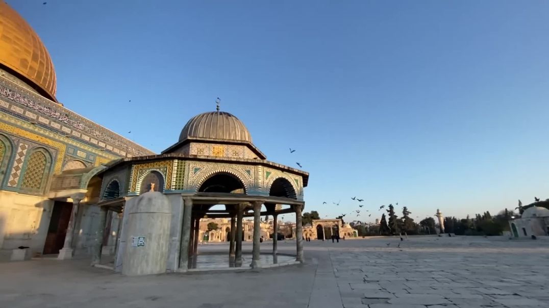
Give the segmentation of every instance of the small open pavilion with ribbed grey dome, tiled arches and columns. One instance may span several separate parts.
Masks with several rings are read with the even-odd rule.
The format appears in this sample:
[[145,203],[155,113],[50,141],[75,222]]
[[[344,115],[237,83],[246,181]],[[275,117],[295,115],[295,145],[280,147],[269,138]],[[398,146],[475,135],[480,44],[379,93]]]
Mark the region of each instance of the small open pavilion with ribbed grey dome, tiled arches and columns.
[[[167,271],[192,267],[197,256],[199,222],[206,216],[231,219],[228,255],[235,266],[242,265],[243,217],[254,217],[250,266],[259,267],[260,217],[274,217],[276,234],[277,216],[295,212],[296,260],[303,261],[301,212],[309,173],[266,160],[252,143],[248,129],[232,114],[218,110],[194,116],[183,127],[179,141],[163,153],[117,160],[102,172],[102,178],[99,230],[104,227],[108,210],[124,212],[139,194],[157,191],[169,198]],[[224,209],[212,209],[214,205],[223,205]],[[130,236],[125,234],[126,216],[122,215],[117,232],[115,270],[122,266]],[[97,240],[92,263],[99,262],[101,245],[102,241]],[[276,253],[274,236],[273,254]]]

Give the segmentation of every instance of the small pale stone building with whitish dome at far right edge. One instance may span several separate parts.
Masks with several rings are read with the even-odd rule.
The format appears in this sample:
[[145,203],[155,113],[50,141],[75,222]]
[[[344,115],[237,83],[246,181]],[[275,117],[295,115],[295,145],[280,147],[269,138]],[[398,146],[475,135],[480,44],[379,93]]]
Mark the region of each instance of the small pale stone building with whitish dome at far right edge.
[[549,210],[541,206],[531,206],[524,210],[520,218],[509,221],[514,237],[548,236]]

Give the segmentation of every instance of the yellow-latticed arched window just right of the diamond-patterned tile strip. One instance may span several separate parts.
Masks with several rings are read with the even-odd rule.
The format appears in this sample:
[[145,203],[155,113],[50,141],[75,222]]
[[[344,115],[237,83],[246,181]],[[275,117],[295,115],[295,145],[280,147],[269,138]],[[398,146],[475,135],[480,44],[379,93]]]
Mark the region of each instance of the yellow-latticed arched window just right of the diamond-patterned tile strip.
[[23,177],[20,180],[21,191],[41,193],[47,182],[51,156],[44,149],[36,149],[27,156]]

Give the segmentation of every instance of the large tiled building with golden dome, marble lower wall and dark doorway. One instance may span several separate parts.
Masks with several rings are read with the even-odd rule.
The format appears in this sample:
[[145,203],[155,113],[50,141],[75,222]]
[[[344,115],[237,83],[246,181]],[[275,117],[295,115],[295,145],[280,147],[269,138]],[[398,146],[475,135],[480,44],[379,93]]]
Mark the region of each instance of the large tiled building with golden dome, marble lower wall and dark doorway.
[[[19,246],[29,247],[24,259],[87,251],[90,226],[81,222],[97,225],[98,173],[110,161],[154,154],[63,107],[56,93],[40,37],[0,1],[0,260]],[[107,234],[104,243],[114,244]]]

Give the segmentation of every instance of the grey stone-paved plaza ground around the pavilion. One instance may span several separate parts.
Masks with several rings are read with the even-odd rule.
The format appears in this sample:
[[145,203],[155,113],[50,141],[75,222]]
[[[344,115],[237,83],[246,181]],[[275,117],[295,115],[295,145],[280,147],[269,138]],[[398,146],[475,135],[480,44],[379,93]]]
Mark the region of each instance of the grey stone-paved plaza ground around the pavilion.
[[[547,239],[385,237],[304,245],[304,265],[146,277],[89,267],[87,259],[4,262],[0,306],[549,307]],[[269,241],[261,245],[263,253],[271,249]],[[251,243],[243,250],[251,251]],[[228,251],[228,244],[199,247],[213,251]],[[295,254],[295,241],[279,242],[278,251]]]

